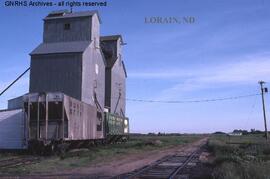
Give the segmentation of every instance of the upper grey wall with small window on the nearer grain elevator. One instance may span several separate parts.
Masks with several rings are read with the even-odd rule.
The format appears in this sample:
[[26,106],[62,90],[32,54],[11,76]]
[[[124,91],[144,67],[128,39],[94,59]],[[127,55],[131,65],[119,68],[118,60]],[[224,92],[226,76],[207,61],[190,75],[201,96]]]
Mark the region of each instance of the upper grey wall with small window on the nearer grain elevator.
[[[65,30],[65,24],[70,29]],[[49,19],[44,22],[43,42],[90,41],[92,17]]]

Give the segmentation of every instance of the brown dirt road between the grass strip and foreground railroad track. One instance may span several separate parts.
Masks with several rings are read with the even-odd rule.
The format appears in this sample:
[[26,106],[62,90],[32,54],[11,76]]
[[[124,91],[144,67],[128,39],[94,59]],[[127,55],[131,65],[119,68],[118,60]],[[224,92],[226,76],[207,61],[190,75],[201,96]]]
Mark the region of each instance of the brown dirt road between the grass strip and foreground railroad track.
[[199,146],[206,143],[207,138],[201,139],[185,146],[177,146],[169,149],[159,151],[149,151],[140,154],[127,155],[122,158],[112,160],[110,163],[99,163],[90,167],[73,169],[71,171],[64,171],[56,173],[56,175],[86,175],[86,176],[98,176],[102,178],[116,176],[122,173],[131,172],[135,169],[149,165],[160,158],[163,158],[171,154],[183,154],[190,153],[196,150]]

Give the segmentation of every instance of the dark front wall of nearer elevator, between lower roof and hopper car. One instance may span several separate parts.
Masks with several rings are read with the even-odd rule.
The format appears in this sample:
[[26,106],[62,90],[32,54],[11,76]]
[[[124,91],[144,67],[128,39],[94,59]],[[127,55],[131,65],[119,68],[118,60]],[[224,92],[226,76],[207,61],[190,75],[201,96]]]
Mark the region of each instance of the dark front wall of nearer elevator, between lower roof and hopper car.
[[30,93],[59,91],[81,100],[81,87],[80,53],[32,56]]

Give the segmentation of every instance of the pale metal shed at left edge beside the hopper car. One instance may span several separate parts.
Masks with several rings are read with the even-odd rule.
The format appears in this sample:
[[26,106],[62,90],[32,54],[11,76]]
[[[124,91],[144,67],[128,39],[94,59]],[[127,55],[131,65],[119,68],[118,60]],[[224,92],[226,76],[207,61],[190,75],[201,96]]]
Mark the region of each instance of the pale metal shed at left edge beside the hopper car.
[[26,128],[22,109],[0,111],[0,149],[25,149]]

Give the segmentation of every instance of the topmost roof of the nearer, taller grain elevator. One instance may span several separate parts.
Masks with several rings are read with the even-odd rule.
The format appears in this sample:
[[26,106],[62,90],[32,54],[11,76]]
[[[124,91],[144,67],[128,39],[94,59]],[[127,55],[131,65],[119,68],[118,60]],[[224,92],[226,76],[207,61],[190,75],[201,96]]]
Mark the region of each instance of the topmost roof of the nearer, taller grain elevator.
[[[51,13],[56,13],[56,11],[53,11]],[[63,11],[61,12],[62,15],[59,15],[59,16],[50,16],[51,13],[49,13],[49,15],[44,18],[44,20],[73,18],[73,17],[87,17],[87,16],[93,16],[94,14],[97,14],[98,19],[101,23],[101,19],[100,19],[98,11],[81,11],[81,12],[72,12],[72,13],[71,12],[67,13],[66,11]]]

